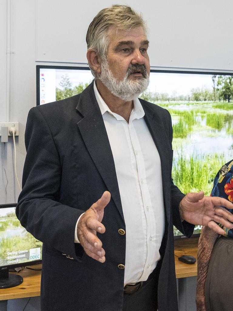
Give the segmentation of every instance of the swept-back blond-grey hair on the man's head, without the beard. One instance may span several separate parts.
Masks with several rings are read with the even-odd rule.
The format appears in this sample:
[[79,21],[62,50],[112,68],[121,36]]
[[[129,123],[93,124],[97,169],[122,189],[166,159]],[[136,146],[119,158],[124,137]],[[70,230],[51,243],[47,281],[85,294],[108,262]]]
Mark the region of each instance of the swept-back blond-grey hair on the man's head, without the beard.
[[[112,7],[107,7],[94,17],[90,23],[87,35],[87,49],[96,51],[97,56],[103,61],[107,60],[107,49],[109,44],[108,30],[114,26],[119,30],[131,30],[137,27],[142,27],[145,34],[148,33],[148,28],[141,14],[135,12],[131,7],[126,5],[115,4]],[[90,66],[94,77],[97,77],[96,72]]]

